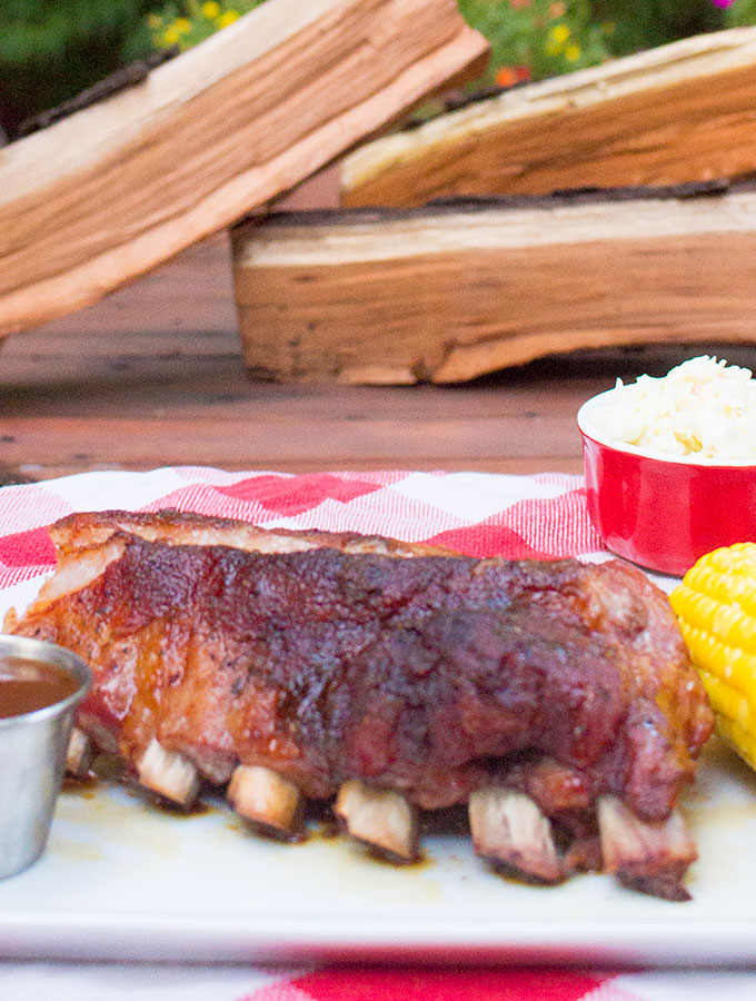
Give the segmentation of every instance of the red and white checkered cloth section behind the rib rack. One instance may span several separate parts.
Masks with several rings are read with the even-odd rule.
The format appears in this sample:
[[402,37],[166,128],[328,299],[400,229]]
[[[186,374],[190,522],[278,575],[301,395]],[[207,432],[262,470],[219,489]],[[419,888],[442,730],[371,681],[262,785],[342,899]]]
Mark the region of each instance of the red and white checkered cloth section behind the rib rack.
[[0,490],[0,587],[52,566],[47,527],[63,515],[163,507],[269,527],[432,542],[471,556],[548,558],[600,549],[581,479],[554,473],[82,473]]

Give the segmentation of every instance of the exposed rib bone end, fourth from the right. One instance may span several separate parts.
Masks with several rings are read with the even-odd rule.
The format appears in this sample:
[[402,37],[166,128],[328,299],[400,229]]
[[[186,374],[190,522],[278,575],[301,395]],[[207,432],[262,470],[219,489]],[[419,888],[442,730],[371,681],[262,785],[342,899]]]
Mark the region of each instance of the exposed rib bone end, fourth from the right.
[[294,839],[301,832],[301,794],[270,769],[239,765],[228,786],[228,800],[237,813],[273,834]]

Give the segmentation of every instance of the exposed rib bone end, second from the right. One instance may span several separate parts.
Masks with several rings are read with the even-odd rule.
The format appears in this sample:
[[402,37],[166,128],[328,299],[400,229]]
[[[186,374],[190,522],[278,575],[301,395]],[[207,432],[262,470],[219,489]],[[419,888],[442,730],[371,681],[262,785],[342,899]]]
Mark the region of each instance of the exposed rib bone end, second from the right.
[[470,794],[469,816],[476,854],[530,880],[563,879],[551,825],[530,796],[501,786],[480,789]]

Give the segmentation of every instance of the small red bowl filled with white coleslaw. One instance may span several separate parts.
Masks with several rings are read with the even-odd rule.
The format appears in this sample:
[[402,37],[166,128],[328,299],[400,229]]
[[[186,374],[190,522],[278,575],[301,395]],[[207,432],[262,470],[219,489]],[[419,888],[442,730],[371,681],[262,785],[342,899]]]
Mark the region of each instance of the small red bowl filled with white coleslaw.
[[613,553],[682,576],[712,549],[756,541],[748,369],[694,358],[663,379],[619,383],[577,420],[588,513]]

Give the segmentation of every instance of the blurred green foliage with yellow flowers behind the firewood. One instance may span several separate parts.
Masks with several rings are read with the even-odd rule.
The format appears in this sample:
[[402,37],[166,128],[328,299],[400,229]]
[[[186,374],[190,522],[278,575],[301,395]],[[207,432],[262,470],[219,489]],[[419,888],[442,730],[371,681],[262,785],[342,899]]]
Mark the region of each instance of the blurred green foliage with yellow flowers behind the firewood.
[[[0,123],[64,101],[153,48],[188,48],[262,0],[0,0]],[[306,0],[302,0],[306,2]],[[734,24],[756,0],[459,0],[488,82],[541,79]]]

